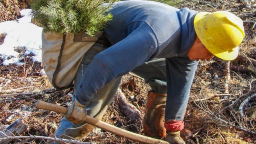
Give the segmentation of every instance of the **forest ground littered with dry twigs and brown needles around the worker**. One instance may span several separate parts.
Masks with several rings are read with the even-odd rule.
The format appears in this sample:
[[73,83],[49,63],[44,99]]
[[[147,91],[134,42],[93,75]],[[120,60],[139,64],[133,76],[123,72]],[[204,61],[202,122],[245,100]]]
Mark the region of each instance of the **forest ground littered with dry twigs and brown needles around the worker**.
[[[1,0],[1,22],[19,18],[18,8],[29,8],[27,0]],[[256,2],[255,0],[185,0],[175,1],[175,7],[189,7],[197,11],[214,12],[228,10],[244,21],[246,37],[240,46],[240,56],[231,62],[213,58],[209,62],[200,61],[190,92],[185,128],[182,136],[188,144],[256,144],[256,98],[243,107],[244,116],[239,114],[240,104],[256,93]],[[4,35],[0,35],[0,42]],[[1,43],[0,43],[1,44]],[[41,63],[33,62],[30,56],[25,65],[5,66],[0,58],[0,130],[15,120],[22,118],[28,126],[22,136],[45,136],[54,134],[63,114],[38,110],[37,100],[43,100],[68,107],[72,88],[58,91],[47,77],[40,73]],[[230,80],[228,80],[230,78]],[[128,102],[142,115],[150,87],[144,80],[132,74],[122,78],[120,89]],[[113,100],[103,121],[143,133],[141,120],[131,123]],[[104,144],[138,144],[95,128],[84,140]],[[44,144],[45,138],[17,138],[15,144]]]

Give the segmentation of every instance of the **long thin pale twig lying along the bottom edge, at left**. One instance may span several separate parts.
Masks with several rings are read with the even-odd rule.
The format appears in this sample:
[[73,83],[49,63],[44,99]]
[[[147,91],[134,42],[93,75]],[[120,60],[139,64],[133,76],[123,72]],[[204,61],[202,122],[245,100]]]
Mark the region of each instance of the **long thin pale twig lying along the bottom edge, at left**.
[[88,142],[81,142],[79,140],[68,140],[68,139],[64,139],[64,138],[56,138],[56,137],[51,138],[51,137],[47,137],[47,136],[34,136],[34,135],[30,135],[30,136],[6,136],[6,137],[3,137],[3,138],[0,138],[0,140],[20,139],[20,138],[45,139],[45,140],[68,142],[68,143],[72,143],[72,144],[91,144],[91,143],[88,143]]

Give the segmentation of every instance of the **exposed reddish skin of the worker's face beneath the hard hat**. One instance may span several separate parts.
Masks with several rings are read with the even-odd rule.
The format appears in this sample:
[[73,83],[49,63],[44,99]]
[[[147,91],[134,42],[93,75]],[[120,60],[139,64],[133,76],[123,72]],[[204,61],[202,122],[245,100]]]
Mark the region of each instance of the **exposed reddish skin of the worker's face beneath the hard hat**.
[[214,55],[207,50],[207,48],[202,44],[198,37],[190,50],[188,51],[188,58],[190,60],[207,60],[209,61]]

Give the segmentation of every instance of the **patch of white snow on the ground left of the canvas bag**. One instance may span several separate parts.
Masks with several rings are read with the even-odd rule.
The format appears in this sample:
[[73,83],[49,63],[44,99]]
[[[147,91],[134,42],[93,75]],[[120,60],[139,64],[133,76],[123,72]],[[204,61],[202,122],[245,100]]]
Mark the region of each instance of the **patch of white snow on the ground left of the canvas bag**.
[[[3,64],[21,64],[19,60],[33,53],[32,59],[42,61],[42,28],[31,23],[31,9],[20,11],[22,18],[0,23],[0,34],[7,34],[0,45]],[[18,51],[18,52],[17,52]]]

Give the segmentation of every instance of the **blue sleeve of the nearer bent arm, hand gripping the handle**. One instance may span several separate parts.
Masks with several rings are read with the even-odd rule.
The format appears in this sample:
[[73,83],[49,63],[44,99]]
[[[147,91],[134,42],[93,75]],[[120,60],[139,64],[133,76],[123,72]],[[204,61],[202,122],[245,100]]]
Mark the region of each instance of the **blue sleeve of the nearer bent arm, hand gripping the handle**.
[[146,22],[128,26],[128,36],[92,59],[77,86],[76,98],[88,104],[97,91],[113,78],[132,71],[152,59],[158,49],[154,31]]

